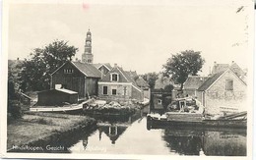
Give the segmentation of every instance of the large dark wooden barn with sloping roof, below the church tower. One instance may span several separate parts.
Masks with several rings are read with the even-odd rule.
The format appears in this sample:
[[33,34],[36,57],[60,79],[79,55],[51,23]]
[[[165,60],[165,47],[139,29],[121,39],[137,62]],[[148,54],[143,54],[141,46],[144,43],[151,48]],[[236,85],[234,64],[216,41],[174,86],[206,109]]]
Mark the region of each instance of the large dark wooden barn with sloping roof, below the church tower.
[[101,73],[92,64],[67,61],[51,74],[51,88],[78,92],[79,98],[97,95]]

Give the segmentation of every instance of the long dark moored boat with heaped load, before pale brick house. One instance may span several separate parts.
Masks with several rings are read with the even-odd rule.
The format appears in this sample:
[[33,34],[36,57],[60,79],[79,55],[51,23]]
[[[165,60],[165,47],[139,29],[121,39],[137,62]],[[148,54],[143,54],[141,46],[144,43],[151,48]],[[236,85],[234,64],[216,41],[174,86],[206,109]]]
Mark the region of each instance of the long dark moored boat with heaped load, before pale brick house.
[[150,126],[204,126],[246,128],[247,112],[232,113],[219,117],[204,115],[204,106],[196,99],[179,98],[170,103],[164,114],[150,113],[147,116]]

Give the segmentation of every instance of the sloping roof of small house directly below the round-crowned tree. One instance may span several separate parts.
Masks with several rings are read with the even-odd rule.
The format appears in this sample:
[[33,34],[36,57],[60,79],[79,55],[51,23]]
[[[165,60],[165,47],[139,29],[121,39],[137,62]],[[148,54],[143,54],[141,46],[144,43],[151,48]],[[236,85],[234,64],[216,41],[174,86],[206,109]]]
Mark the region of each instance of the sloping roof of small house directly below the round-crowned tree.
[[197,89],[201,86],[208,78],[200,76],[189,76],[184,82],[184,89]]

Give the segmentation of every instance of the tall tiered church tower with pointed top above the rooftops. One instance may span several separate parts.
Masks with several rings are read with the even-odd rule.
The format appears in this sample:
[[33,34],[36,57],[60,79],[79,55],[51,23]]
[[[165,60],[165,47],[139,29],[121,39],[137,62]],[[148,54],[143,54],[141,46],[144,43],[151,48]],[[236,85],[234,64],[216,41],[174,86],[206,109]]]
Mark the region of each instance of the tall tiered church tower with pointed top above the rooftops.
[[87,32],[85,52],[82,54],[82,62],[90,64],[94,62],[94,55],[92,54],[92,33],[90,29]]

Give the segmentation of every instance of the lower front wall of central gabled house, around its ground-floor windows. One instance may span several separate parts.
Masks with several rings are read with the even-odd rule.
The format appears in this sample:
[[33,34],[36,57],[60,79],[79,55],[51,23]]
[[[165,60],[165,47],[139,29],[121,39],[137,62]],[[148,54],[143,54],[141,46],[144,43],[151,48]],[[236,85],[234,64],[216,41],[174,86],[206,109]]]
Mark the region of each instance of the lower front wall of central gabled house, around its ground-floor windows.
[[[103,86],[107,86],[107,94],[103,94]],[[126,92],[124,95],[124,87]],[[112,95],[112,88],[116,88],[116,95]],[[98,83],[98,97],[108,101],[126,101],[131,99],[132,86],[131,84],[111,84],[111,83]]]

